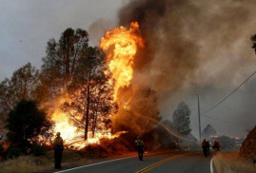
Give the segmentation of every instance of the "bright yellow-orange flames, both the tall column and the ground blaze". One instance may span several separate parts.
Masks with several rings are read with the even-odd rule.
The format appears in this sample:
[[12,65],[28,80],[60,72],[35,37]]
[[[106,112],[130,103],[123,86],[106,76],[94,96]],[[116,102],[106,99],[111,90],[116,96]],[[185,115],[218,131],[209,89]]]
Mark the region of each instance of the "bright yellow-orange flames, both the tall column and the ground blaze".
[[[117,100],[119,88],[128,87],[130,84],[133,77],[133,60],[138,46],[143,47],[143,39],[140,35],[139,24],[136,22],[132,22],[129,29],[120,27],[109,30],[101,39],[100,47],[106,50],[108,70],[112,74],[109,83],[114,81],[114,100]],[[112,135],[110,129],[96,130],[94,137],[89,133],[89,138],[85,142],[84,131],[72,125],[69,121],[69,114],[61,109],[65,102],[69,102],[69,97],[59,98],[54,104],[51,120],[55,123],[54,132],[60,131],[66,144],[82,148],[87,144],[99,144],[101,138],[112,139],[124,133],[121,131]]]

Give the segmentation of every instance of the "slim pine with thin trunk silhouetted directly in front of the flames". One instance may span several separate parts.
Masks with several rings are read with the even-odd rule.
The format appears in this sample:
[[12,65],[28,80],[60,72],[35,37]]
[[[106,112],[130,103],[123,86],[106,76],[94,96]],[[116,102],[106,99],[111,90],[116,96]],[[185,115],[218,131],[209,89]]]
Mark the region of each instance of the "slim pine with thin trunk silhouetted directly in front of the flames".
[[101,126],[98,123],[108,122],[114,107],[112,87],[105,71],[104,53],[99,48],[89,48],[69,86],[69,102],[63,106],[73,124],[79,130],[84,129],[85,140],[88,140],[89,126],[94,137]]

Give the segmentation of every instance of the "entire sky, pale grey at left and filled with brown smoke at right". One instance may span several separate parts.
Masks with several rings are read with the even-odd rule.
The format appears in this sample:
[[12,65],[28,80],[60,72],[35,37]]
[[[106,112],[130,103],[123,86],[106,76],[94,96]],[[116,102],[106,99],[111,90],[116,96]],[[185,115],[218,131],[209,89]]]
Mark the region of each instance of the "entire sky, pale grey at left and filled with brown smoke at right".
[[[184,101],[198,136],[201,111],[218,103],[256,68],[250,36],[254,0],[0,0],[0,80],[31,62],[42,65],[47,41],[67,28],[89,30],[99,44],[107,29],[141,24],[147,49],[135,59],[133,83],[156,91],[160,115],[171,120]],[[202,115],[219,134],[245,136],[256,122],[256,76],[221,106]]]

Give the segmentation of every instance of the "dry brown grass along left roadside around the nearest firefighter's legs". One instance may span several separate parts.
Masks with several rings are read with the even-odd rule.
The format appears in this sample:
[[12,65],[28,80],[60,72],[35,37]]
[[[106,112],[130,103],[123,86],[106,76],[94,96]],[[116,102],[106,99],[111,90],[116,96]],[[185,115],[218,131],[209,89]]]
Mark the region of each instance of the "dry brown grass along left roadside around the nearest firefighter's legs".
[[[114,158],[116,156],[112,156]],[[118,156],[120,157],[120,156]],[[74,167],[86,163],[104,161],[107,158],[89,158],[82,153],[64,150],[62,166],[63,168]],[[8,160],[0,163],[0,173],[28,173],[28,172],[53,172],[54,171],[54,154],[48,151],[45,156],[35,157],[20,156],[17,159]]]

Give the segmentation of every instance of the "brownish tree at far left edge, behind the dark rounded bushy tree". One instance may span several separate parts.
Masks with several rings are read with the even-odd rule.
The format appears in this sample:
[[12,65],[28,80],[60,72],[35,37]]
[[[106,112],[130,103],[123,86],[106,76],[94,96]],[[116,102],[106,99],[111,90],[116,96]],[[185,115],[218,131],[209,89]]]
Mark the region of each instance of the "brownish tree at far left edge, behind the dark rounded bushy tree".
[[6,78],[0,83],[0,129],[3,129],[10,109],[20,100],[38,99],[35,90],[39,84],[39,70],[30,63],[17,69],[10,79]]

